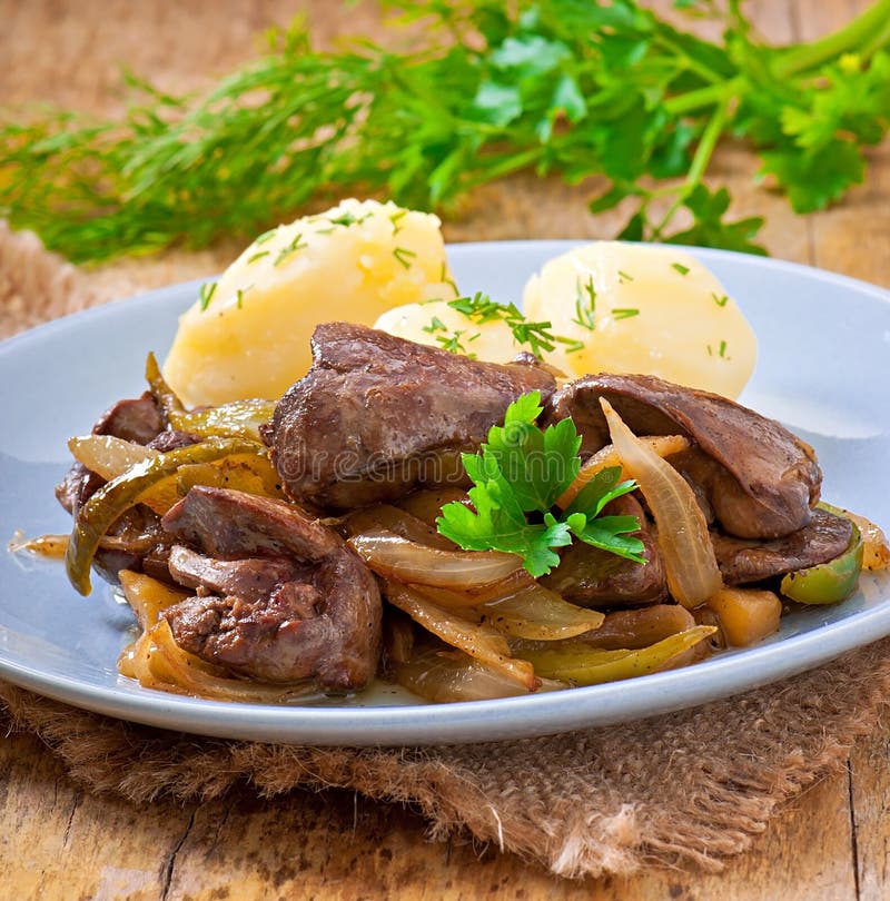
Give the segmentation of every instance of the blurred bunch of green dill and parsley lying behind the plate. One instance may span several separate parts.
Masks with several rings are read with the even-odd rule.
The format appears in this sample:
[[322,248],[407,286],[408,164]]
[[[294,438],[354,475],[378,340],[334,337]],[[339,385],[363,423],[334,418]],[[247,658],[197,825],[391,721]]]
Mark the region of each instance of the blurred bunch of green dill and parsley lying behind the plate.
[[[815,2],[815,0],[813,0]],[[301,23],[205,97],[128,77],[120,120],[0,111],[0,216],[75,260],[249,238],[345,194],[448,208],[513,172],[605,178],[619,237],[763,253],[709,185],[725,137],[808,212],[861,182],[890,127],[890,0],[810,43],[760,41],[740,0],[383,0],[412,49],[312,47]],[[388,43],[388,41],[387,41]],[[683,221],[685,220],[685,221]]]

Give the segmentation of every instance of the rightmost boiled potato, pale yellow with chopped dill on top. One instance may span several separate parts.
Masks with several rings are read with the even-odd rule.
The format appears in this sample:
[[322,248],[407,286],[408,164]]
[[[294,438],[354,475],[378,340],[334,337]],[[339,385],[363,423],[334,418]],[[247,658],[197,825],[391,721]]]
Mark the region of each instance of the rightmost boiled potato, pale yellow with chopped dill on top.
[[566,373],[635,373],[738,397],[756,338],[723,286],[682,250],[599,241],[548,260],[525,287],[530,319],[583,344]]

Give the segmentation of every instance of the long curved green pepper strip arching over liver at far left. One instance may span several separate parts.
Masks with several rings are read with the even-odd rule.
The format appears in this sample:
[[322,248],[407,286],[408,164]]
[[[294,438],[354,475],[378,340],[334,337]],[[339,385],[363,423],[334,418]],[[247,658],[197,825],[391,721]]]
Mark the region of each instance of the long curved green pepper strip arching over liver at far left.
[[65,565],[68,578],[82,595],[88,595],[90,566],[102,536],[115,521],[160,482],[176,476],[177,469],[190,463],[212,463],[233,454],[266,454],[257,442],[243,438],[208,438],[200,444],[180,447],[151,459],[137,463],[126,473],[102,485],[78,511]]

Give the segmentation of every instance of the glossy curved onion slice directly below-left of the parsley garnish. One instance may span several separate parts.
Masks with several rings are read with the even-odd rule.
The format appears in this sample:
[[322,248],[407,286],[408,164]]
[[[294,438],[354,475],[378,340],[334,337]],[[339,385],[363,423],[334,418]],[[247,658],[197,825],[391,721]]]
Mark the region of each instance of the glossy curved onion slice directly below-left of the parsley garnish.
[[439,551],[387,529],[355,535],[349,545],[370,570],[387,578],[466,588],[498,582],[522,567],[522,557],[500,551]]

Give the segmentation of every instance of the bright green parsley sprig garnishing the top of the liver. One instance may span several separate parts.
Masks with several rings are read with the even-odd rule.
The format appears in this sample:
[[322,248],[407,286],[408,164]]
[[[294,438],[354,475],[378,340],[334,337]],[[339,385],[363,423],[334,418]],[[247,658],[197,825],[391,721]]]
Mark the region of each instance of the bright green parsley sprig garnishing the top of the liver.
[[581,436],[571,418],[542,430],[541,395],[532,392],[507,407],[503,426],[488,430],[478,454],[464,454],[473,508],[446,504],[436,526],[465,551],[505,551],[518,554],[533,576],[558,565],[554,547],[573,537],[636,563],[645,563],[643,543],[629,533],[639,531],[635,516],[601,516],[603,507],[636,488],[619,482],[620,467],[596,474],[560,511],[556,501],[581,468]]

